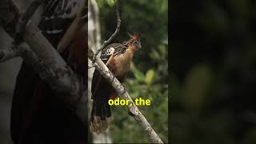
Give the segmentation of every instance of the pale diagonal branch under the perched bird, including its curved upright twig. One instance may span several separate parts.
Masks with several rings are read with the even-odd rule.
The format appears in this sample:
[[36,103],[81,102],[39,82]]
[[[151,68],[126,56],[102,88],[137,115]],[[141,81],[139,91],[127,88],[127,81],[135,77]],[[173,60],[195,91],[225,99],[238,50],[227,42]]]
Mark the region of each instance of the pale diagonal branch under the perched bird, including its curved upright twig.
[[110,82],[111,86],[113,86],[114,89],[118,92],[118,96],[122,99],[130,100],[127,107],[130,110],[130,112],[132,114],[134,114],[134,119],[138,122],[138,124],[140,126],[142,126],[142,129],[145,130],[146,134],[150,138],[150,142],[163,143],[161,138],[159,138],[158,134],[156,134],[154,129],[150,126],[150,123],[147,122],[146,118],[143,116],[143,114],[140,112],[140,110],[138,110],[138,107],[135,105],[134,101],[130,97],[130,94],[128,94],[128,92],[125,90],[124,86],[122,86],[122,84],[118,81],[118,79],[115,78],[114,74],[112,74],[112,72],[107,68],[107,66],[104,64],[104,62],[102,62],[102,60],[97,57],[97,54],[107,44],[109,44],[113,40],[115,35],[118,33],[120,23],[121,23],[119,13],[118,13],[118,6],[117,6],[116,11],[117,11],[117,15],[118,15],[118,27],[115,30],[114,34],[112,34],[112,36],[102,44],[101,48],[97,51],[96,54],[94,54],[93,50],[88,48],[88,56],[89,56],[90,60],[93,61],[93,66],[95,67],[95,69],[97,69],[102,74],[102,76],[104,78],[106,78],[106,80],[108,82]]

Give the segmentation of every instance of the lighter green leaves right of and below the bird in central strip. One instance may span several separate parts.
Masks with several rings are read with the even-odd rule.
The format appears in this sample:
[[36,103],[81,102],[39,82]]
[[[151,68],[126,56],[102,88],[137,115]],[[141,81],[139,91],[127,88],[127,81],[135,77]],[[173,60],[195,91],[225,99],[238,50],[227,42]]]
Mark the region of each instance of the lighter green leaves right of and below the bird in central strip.
[[[167,46],[162,45],[167,49]],[[151,126],[159,134],[163,141],[167,142],[168,135],[168,85],[167,79],[167,50],[162,50],[162,57],[156,60],[156,66],[151,66],[146,73],[139,70],[138,66],[131,65],[133,76],[126,79],[125,86],[131,97],[150,99],[150,106],[138,106],[150,122]],[[160,53],[160,51],[156,51]],[[153,59],[151,59],[154,61]],[[134,62],[136,63],[136,62]],[[111,126],[111,134],[114,142],[149,142],[146,134],[134,122],[134,118],[127,115],[127,110],[114,108],[115,126]],[[118,135],[117,135],[118,134]],[[122,136],[120,137],[120,134]],[[132,139],[136,136],[138,139]]]

